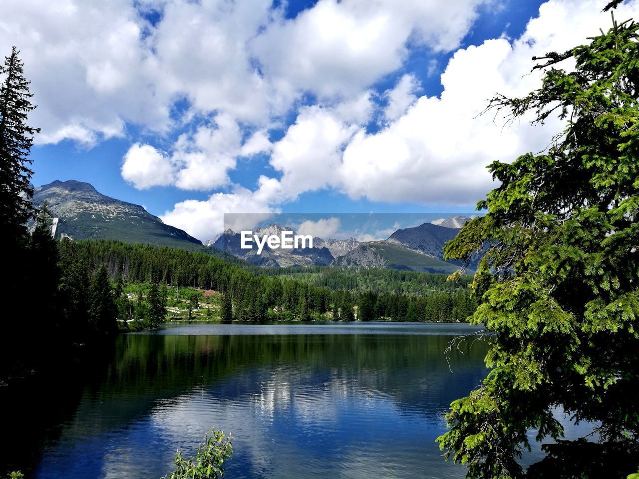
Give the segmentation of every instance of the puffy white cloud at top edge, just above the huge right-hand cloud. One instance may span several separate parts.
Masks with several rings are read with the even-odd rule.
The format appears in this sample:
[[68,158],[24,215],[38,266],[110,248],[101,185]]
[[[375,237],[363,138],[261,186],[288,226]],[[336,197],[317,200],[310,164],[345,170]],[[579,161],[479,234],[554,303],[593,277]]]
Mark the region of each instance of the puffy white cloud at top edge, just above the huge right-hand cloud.
[[482,0],[319,0],[295,19],[271,24],[252,45],[281,95],[311,91],[349,98],[394,72],[408,42],[458,47]]

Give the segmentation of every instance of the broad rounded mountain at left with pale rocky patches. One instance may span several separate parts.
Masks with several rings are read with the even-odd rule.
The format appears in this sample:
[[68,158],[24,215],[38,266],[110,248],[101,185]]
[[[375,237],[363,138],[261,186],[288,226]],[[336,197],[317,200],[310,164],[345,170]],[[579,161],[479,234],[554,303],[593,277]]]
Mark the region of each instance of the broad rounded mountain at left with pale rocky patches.
[[118,239],[176,248],[202,245],[187,232],[164,224],[142,206],[103,195],[82,181],[56,180],[35,188],[35,205],[42,206],[45,201],[52,215],[60,218],[58,234],[66,233],[75,239]]

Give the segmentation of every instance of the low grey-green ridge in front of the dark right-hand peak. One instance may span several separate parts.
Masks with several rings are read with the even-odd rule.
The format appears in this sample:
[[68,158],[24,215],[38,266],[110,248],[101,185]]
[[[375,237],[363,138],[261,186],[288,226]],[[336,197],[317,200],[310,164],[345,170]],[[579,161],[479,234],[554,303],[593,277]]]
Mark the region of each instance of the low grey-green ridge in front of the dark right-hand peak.
[[335,259],[334,265],[445,274],[450,274],[459,268],[451,262],[428,256],[388,240],[361,243],[354,250]]

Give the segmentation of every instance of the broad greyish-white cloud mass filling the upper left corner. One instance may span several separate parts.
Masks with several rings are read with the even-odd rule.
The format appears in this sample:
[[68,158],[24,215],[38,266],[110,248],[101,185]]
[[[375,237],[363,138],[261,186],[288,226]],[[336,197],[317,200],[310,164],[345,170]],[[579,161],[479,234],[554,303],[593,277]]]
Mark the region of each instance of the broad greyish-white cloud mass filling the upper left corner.
[[[152,10],[156,24],[145,17]],[[26,0],[3,6],[0,49],[20,49],[38,103],[36,142],[93,146],[125,135],[126,123],[169,132],[183,99],[189,114],[266,123],[271,87],[246,44],[271,15],[266,1]]]

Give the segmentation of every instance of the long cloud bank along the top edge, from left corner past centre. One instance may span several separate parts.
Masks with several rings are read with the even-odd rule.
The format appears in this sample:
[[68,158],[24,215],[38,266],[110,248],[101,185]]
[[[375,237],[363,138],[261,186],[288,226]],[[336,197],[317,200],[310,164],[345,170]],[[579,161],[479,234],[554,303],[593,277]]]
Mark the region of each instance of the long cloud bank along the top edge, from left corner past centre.
[[456,47],[486,1],[320,0],[284,19],[268,0],[24,0],[3,4],[0,50],[21,50],[36,142],[92,146],[127,123],[171,131],[183,99],[186,118],[224,113],[259,129],[305,92],[360,95],[401,66],[407,43]]

